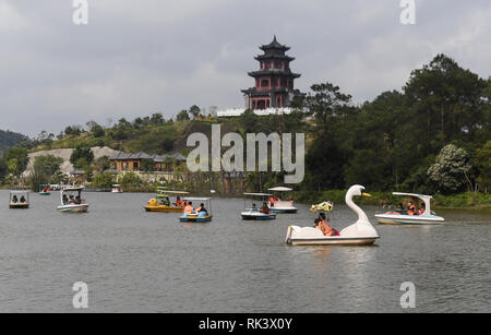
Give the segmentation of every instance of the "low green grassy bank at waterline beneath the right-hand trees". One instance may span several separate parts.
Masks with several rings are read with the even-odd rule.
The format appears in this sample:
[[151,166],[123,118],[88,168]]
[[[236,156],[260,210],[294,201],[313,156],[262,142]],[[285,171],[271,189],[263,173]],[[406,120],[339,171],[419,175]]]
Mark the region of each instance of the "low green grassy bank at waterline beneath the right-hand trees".
[[[299,191],[295,192],[297,202],[306,204],[318,204],[323,201],[332,201],[335,204],[345,202],[345,190],[330,190],[323,192]],[[382,206],[384,204],[398,204],[402,199],[391,192],[371,192],[371,198],[357,199],[356,201],[364,205]],[[436,194],[432,201],[433,208],[491,208],[491,194],[463,193],[455,195]]]

